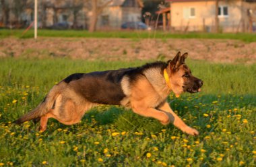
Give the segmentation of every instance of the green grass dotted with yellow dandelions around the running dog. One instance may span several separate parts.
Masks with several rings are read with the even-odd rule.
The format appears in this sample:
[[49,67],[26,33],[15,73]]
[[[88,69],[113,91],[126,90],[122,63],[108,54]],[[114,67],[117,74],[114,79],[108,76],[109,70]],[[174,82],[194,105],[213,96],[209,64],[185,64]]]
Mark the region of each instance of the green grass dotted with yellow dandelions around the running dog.
[[202,92],[168,101],[198,137],[119,106],[98,106],[77,125],[50,120],[44,133],[11,124],[71,73],[143,63],[0,59],[0,166],[255,166],[255,64],[187,62]]

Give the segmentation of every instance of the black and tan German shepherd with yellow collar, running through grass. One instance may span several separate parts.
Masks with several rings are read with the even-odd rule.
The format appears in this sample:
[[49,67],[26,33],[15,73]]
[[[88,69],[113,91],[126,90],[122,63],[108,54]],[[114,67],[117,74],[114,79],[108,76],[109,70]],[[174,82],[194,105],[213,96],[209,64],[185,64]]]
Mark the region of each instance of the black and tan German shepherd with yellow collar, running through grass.
[[133,112],[168,123],[189,135],[198,131],[187,126],[166,101],[170,92],[199,92],[203,81],[194,77],[185,65],[187,53],[177,53],[174,59],[141,67],[74,73],[53,86],[44,100],[31,112],[14,123],[40,120],[40,131],[45,131],[49,118],[65,125],[79,123],[85,112],[97,104],[129,107]]

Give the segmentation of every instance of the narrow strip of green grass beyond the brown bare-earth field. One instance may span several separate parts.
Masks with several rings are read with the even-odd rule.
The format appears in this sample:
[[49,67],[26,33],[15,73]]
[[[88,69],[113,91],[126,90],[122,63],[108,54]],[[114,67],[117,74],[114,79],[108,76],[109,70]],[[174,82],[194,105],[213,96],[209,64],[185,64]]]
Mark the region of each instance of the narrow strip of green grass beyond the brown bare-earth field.
[[[7,38],[14,36],[17,38],[33,38],[34,31],[29,30],[24,35],[24,30],[6,30],[0,29],[0,38]],[[86,30],[38,30],[38,36],[43,37],[82,37],[82,38],[201,38],[201,39],[234,39],[243,40],[245,42],[255,42],[256,34],[247,33],[196,33],[191,32],[187,34],[171,34],[170,32],[162,31],[106,31],[90,33]]]

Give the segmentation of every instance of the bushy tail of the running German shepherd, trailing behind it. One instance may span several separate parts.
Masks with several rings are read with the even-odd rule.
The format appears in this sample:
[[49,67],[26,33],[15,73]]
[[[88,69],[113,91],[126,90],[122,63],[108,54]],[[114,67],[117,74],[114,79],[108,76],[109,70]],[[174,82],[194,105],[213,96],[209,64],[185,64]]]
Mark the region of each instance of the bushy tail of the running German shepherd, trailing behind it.
[[46,95],[44,100],[40,102],[40,104],[36,108],[34,108],[34,110],[20,117],[20,119],[13,121],[13,123],[22,124],[30,120],[33,120],[34,122],[39,121],[41,116],[48,113],[51,109],[54,108],[55,100],[59,95],[59,90],[60,89],[58,85],[54,86],[49,92],[49,94]]

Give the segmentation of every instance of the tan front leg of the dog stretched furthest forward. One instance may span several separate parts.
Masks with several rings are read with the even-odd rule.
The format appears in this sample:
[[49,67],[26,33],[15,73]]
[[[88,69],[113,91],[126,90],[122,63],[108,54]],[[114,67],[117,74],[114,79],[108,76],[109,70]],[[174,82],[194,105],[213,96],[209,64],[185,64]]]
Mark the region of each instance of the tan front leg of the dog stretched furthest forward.
[[177,128],[181,129],[181,131],[189,134],[189,135],[199,135],[199,132],[189,126],[187,126],[177,114],[172,111],[168,102],[164,102],[162,106],[158,107],[159,110],[168,113],[170,122]]

